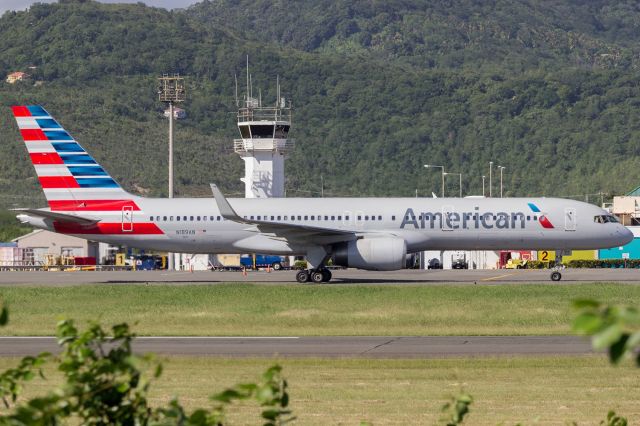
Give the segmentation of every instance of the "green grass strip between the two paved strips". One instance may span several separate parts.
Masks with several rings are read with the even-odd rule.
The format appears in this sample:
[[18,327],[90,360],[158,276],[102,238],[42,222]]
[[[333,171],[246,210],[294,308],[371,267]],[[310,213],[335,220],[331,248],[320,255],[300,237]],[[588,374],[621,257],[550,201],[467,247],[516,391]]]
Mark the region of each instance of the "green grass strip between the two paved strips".
[[571,301],[636,303],[640,286],[92,285],[1,287],[3,335],[51,335],[61,318],[126,321],[140,335],[565,334]]

